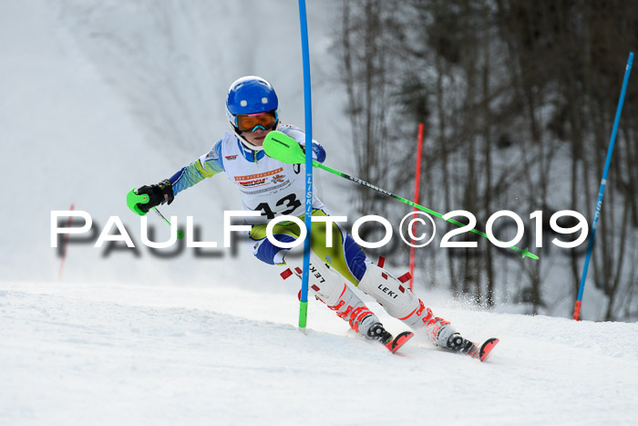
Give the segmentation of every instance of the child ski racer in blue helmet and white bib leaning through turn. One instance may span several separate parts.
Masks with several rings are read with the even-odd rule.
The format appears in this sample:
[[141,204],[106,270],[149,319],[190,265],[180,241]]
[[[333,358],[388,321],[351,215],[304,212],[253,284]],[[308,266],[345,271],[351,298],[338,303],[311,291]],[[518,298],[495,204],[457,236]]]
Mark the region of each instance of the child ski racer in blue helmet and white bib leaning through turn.
[[[267,264],[288,266],[282,274],[284,278],[293,274],[301,277],[300,257],[290,255],[289,249],[280,248],[266,238],[266,223],[275,216],[291,214],[304,220],[304,164],[277,161],[268,157],[262,148],[263,140],[271,130],[282,131],[304,149],[308,146],[302,130],[279,121],[278,106],[277,95],[265,79],[247,76],[234,81],[226,99],[231,131],[224,131],[211,151],[170,179],[138,188],[137,194],[148,195],[149,201],[138,203],[136,213],[146,214],[154,206],[170,204],[179,192],[225,171],[228,179],[242,192],[243,209],[261,212],[260,217],[247,219],[252,225],[249,233],[252,253]],[[324,148],[314,141],[311,147],[314,160],[324,162]],[[328,214],[324,203],[314,196],[313,216]],[[326,246],[326,226],[333,227],[330,248]],[[299,233],[299,227],[292,222],[278,223],[273,228],[275,239],[283,243],[296,240]],[[338,317],[348,321],[357,334],[379,340],[393,352],[413,335],[406,332],[393,338],[345,281],[373,296],[388,314],[424,333],[440,348],[461,351],[483,360],[496,343],[487,345],[486,342],[485,350],[480,350],[462,338],[448,321],[434,317],[430,308],[403,286],[402,281],[383,269],[382,262],[377,265],[371,262],[354,239],[335,223],[314,223],[311,246],[313,273],[309,274],[308,286]]]

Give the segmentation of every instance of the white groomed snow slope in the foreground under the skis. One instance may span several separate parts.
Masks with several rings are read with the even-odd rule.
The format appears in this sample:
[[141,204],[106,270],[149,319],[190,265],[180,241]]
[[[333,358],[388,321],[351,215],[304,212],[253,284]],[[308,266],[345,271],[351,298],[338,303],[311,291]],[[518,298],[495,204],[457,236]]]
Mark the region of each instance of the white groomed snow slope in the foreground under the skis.
[[[435,307],[488,362],[237,288],[0,285],[1,424],[635,424],[637,324]],[[379,311],[379,307],[375,307]],[[383,317],[383,316],[382,316]],[[383,317],[395,332],[401,326]]]

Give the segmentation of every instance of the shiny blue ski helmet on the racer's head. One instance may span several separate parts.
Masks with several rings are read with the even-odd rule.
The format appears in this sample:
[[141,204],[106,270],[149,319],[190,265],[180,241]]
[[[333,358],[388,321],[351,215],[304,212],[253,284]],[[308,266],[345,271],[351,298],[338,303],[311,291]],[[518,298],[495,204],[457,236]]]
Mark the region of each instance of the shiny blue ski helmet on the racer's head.
[[241,133],[237,127],[237,116],[274,111],[277,117],[279,99],[273,86],[261,77],[246,76],[232,82],[226,97],[226,116],[232,130]]

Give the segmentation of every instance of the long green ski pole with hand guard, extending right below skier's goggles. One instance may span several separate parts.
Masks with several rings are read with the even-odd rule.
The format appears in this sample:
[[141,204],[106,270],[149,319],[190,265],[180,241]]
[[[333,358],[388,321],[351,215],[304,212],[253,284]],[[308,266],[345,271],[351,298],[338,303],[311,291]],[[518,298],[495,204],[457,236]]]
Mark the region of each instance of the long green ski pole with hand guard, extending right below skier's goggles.
[[[268,133],[268,135],[266,136],[266,139],[263,140],[263,150],[266,151],[266,154],[269,157],[273,157],[274,159],[283,161],[288,164],[299,164],[305,161],[304,151],[302,150],[301,146],[299,146],[299,143],[297,143],[296,140],[294,140],[293,138],[284,134],[281,131],[271,131],[270,133]],[[373,185],[372,183],[368,183],[368,182],[362,181],[359,178],[355,178],[355,176],[350,176],[349,174],[344,173],[343,171],[335,170],[331,167],[328,167],[320,163],[319,161],[313,161],[313,166],[316,167],[317,169],[322,169],[324,171],[329,171],[333,174],[336,174],[337,176],[345,178],[348,181],[356,182],[360,185],[364,185],[365,187],[375,190],[376,192],[381,192],[384,195],[387,195],[388,197],[392,197],[395,200],[400,201],[401,203],[406,203],[407,205],[411,205],[412,207],[415,207],[418,210],[432,214],[433,216],[437,216],[449,223],[454,223],[458,226],[466,226],[464,223],[455,221],[452,218],[444,219],[443,214],[441,213],[437,213],[434,210],[430,210],[427,207],[422,206],[421,204],[411,202],[410,200],[407,200],[406,198],[400,197],[392,192],[379,188],[378,186]],[[470,232],[489,239],[488,234],[482,233],[478,231],[478,229],[471,229]],[[527,248],[520,249],[519,247],[515,245],[512,245],[509,248],[516,252],[519,252],[523,258],[530,257],[536,260],[538,260],[539,258],[538,255],[534,255],[533,253],[530,253],[530,251]]]

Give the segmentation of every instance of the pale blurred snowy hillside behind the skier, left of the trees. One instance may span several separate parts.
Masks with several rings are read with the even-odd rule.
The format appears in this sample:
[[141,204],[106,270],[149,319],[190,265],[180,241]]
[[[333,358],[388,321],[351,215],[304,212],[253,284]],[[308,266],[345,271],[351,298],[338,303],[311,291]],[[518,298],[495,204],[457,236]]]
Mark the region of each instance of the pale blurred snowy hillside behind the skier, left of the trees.
[[[336,4],[309,5],[308,14],[314,136],[328,148],[332,164],[344,167],[352,155],[350,133],[341,117],[327,25]],[[169,259],[151,255],[140,242],[139,217],[127,208],[126,194],[170,177],[210,150],[228,129],[226,92],[240,76],[268,78],[281,99],[283,121],[304,127],[298,20],[296,3],[278,1],[2,2],[0,166],[14,181],[5,185],[0,209],[0,277],[57,279],[50,213],[72,203],[91,215],[95,234],[85,242],[71,238],[67,281],[175,282],[187,274],[207,280],[211,267],[229,276],[218,266],[252,261],[244,250],[233,256],[223,249],[209,250],[208,257],[192,250]],[[347,195],[320,192],[325,202]],[[202,240],[221,241],[223,211],[238,206],[231,183],[216,176],[180,193],[163,213],[177,215],[182,225],[192,215]],[[137,250],[123,244],[112,252],[93,248],[113,215]],[[159,241],[166,238],[154,215],[149,224]],[[277,281],[265,265],[253,265],[249,282],[269,273]]]

